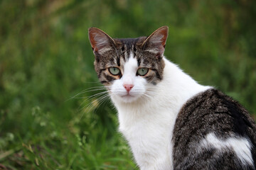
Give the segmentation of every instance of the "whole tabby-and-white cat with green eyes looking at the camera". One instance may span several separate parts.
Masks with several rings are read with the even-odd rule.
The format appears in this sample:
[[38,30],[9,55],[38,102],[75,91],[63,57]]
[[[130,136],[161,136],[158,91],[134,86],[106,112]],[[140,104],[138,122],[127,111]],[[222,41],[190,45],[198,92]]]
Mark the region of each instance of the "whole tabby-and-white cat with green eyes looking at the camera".
[[254,120],[164,57],[168,29],[119,39],[89,28],[95,71],[139,169],[255,169]]

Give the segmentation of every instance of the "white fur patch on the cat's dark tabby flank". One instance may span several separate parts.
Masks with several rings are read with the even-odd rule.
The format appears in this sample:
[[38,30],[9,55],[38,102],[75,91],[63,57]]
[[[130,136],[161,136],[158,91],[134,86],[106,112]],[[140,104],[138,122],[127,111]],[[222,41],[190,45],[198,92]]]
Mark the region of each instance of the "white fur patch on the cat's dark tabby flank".
[[201,147],[215,148],[220,152],[227,151],[226,149],[233,149],[238,159],[242,164],[253,165],[251,144],[245,137],[229,137],[226,140],[218,139],[213,133],[209,133],[201,142]]

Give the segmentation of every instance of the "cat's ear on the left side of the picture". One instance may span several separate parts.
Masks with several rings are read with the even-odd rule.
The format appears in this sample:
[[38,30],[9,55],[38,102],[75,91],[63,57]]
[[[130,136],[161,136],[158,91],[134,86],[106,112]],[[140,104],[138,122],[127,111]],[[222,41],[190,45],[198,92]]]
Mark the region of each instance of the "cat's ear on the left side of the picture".
[[93,52],[109,50],[115,44],[110,35],[99,28],[89,28],[88,33]]

